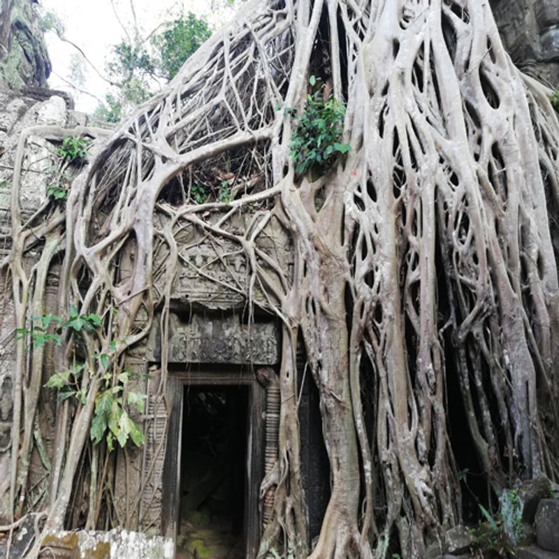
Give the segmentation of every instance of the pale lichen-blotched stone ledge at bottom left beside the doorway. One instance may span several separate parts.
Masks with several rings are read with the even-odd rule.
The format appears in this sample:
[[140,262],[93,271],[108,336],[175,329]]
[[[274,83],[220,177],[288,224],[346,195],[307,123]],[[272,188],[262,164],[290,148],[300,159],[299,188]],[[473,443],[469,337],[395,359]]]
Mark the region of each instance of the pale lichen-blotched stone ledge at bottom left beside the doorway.
[[172,539],[127,530],[56,532],[45,537],[42,546],[55,558],[80,559],[172,559],[175,551]]

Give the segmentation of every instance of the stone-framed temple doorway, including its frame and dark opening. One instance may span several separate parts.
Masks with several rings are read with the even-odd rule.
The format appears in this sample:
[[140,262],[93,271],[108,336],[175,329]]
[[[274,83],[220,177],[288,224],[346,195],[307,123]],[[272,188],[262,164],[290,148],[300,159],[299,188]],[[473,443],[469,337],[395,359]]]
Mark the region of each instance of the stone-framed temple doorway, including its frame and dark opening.
[[266,391],[242,370],[170,372],[164,533],[178,559],[254,559]]

